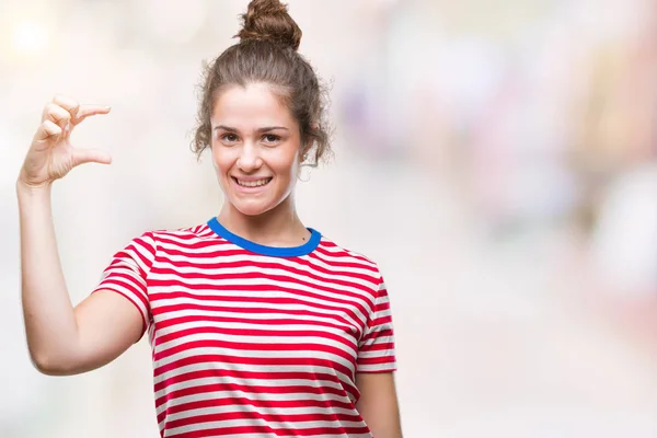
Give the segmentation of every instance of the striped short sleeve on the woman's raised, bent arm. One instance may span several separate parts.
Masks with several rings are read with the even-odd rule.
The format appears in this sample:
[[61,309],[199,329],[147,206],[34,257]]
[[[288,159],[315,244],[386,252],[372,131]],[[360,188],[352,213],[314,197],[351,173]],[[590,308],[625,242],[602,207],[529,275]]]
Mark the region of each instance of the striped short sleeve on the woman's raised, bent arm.
[[112,290],[128,299],[141,314],[143,327],[139,339],[151,321],[147,277],[155,258],[155,241],[152,233],[132,239],[122,251],[114,254],[110,266],[103,270],[99,286],[92,291]]

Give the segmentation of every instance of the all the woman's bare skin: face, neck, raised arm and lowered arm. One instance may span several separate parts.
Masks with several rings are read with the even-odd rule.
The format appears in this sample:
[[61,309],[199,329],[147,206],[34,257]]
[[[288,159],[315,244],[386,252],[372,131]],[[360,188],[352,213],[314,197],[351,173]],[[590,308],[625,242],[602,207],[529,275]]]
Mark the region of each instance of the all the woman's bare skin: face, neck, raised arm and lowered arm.
[[[74,148],[71,132],[105,106],[56,96],[16,181],[21,223],[22,301],[31,358],[45,374],[70,376],[100,368],[139,339],[141,315],[125,298],[100,290],[72,307],[51,219],[53,182],[84,163],[110,164],[105,152]],[[293,191],[306,147],[290,112],[263,83],[222,91],[211,114],[211,152],[226,195],[219,221],[231,232],[270,246],[297,246],[310,232],[295,207]],[[267,181],[244,189],[238,182]],[[358,373],[357,408],[377,438],[402,437],[394,377]]]

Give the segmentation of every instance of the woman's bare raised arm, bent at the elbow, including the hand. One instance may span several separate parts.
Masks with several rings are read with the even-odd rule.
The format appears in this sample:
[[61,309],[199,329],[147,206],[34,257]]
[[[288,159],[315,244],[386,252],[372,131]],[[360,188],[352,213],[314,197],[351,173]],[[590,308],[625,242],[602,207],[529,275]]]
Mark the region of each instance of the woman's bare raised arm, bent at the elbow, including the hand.
[[70,130],[107,111],[56,97],[44,110],[16,182],[25,333],[35,367],[47,374],[97,368],[127,349],[142,330],[139,311],[114,292],[97,291],[73,309],[55,239],[51,183],[78,164],[108,162],[97,151],[73,149]]

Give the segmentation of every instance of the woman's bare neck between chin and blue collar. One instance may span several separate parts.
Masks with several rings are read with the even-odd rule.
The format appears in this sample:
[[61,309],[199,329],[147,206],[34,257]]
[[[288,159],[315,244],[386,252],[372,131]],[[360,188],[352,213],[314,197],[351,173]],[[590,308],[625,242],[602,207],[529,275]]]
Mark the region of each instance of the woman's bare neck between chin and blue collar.
[[298,246],[310,238],[289,198],[257,216],[244,215],[226,201],[217,219],[231,233],[261,245]]

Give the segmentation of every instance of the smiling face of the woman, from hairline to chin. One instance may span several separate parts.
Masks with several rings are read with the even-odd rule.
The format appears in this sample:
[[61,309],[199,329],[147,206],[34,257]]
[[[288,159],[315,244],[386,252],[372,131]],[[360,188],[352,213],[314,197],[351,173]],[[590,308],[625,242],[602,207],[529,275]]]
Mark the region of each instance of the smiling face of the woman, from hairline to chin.
[[299,173],[299,124],[267,84],[223,90],[210,126],[219,185],[235,209],[256,216],[289,197]]

